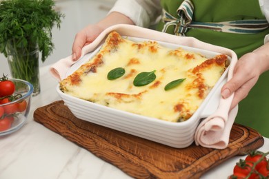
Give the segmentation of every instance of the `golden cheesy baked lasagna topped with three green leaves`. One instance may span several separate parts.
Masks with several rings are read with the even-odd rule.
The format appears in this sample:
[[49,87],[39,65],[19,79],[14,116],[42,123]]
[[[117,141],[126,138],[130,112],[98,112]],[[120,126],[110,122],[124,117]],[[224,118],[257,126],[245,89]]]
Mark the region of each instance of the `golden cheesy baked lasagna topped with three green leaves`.
[[99,52],[63,79],[60,89],[92,103],[181,122],[195,113],[226,67],[224,54],[206,58],[110,32]]

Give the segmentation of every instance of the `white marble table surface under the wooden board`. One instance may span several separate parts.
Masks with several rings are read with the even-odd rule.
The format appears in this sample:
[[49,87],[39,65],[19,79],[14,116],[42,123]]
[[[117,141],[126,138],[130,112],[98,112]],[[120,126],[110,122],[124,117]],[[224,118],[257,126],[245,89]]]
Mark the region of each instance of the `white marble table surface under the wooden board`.
[[[37,107],[60,100],[56,92],[57,81],[41,67],[41,94],[32,98],[32,107],[26,125],[19,131],[0,137],[1,179],[83,179],[130,178],[86,149],[33,120]],[[269,139],[259,150],[269,151]],[[227,178],[239,158],[237,156],[206,172],[202,178]]]

